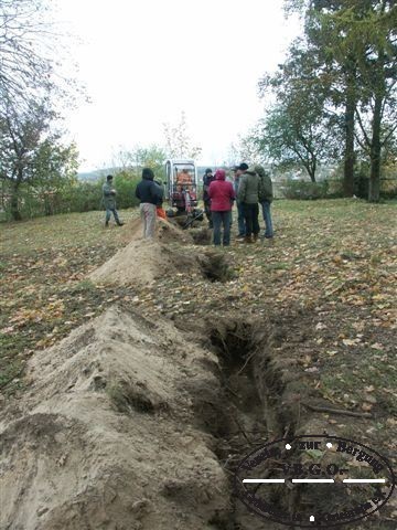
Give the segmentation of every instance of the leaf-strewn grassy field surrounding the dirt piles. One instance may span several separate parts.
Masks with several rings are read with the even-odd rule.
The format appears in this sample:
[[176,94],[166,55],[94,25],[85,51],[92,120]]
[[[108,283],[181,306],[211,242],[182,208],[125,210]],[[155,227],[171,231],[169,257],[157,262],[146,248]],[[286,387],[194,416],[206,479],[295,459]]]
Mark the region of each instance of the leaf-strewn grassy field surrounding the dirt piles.
[[[128,222],[137,211],[121,214]],[[114,303],[195,319],[293,308],[303,327],[305,316],[316,322],[311,349],[299,360],[313,371],[316,392],[341,406],[375,411],[379,430],[396,426],[396,203],[276,201],[273,242],[247,247],[234,240],[221,251],[234,279],[210,288],[183,272],[155,289],[95,286],[87,273],[128,242],[128,224],[106,230],[103,218],[89,212],[0,225],[0,393],[28,384],[23,369],[35,349]]]

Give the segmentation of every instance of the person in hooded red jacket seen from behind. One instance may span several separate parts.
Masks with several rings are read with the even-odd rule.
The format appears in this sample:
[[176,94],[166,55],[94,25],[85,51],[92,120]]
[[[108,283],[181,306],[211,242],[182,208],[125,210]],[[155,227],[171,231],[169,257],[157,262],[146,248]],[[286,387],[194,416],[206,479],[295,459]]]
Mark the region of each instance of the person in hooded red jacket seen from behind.
[[226,171],[217,169],[215,180],[208,188],[211,213],[214,225],[214,245],[221,245],[221,225],[223,225],[223,244],[230,244],[230,220],[233,201],[236,198],[232,182],[226,181]]

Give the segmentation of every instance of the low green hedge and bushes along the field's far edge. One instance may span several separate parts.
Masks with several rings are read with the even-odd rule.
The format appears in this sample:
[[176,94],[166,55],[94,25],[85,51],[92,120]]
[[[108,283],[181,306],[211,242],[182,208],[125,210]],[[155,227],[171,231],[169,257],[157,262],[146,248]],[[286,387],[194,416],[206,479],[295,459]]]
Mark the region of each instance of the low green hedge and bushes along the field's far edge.
[[[202,176],[205,167],[198,167],[198,186],[202,183]],[[30,186],[28,182],[20,186],[18,190],[18,209],[21,219],[32,219],[43,215],[55,215],[69,212],[88,212],[93,210],[103,210],[103,184],[106,174],[115,176],[115,188],[117,190],[117,208],[135,208],[139,204],[135,197],[137,183],[140,180],[140,170],[120,170],[108,168],[101,170],[90,180],[62,179],[62,186],[49,186],[47,183],[37,183]],[[93,173],[86,173],[93,176]],[[82,177],[79,174],[79,177]],[[164,174],[159,170],[157,178],[164,181]],[[14,197],[11,193],[10,183],[0,181],[0,220],[11,221],[11,202]],[[301,179],[291,179],[287,176],[277,174],[273,182],[275,195],[277,199],[326,199],[343,195],[342,179],[328,178],[320,182],[308,182]],[[355,195],[366,198],[368,193],[368,171],[363,170],[355,180]],[[394,199],[397,197],[397,180],[393,174],[385,174],[380,181],[380,194],[384,199]]]

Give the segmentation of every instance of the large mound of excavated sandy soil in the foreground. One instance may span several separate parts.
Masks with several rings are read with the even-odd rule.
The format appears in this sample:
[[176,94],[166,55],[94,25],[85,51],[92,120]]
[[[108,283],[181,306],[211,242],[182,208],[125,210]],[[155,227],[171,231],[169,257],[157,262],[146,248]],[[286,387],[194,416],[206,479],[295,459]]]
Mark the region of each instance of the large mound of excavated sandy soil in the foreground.
[[117,308],[37,352],[0,423],[0,528],[226,528],[214,362],[171,324]]

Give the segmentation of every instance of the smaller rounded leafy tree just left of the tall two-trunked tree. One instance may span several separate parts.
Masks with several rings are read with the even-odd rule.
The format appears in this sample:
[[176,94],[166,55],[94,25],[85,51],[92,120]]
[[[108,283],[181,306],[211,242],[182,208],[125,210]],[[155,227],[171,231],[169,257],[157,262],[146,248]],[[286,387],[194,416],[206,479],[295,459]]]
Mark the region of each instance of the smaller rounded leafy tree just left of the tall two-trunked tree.
[[339,155],[334,139],[340,118],[328,107],[328,70],[299,40],[278,72],[259,82],[260,94],[272,91],[277,103],[261,120],[258,145],[278,165],[303,166],[312,182],[319,162]]

